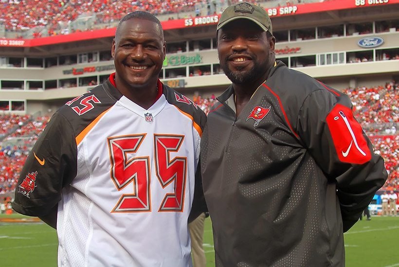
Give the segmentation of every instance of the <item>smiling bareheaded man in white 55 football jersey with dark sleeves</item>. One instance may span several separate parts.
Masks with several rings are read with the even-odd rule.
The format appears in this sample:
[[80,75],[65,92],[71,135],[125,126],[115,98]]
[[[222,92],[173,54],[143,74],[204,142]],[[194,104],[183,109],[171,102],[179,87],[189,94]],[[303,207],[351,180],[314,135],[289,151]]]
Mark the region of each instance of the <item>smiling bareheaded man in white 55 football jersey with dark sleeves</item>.
[[206,116],[158,79],[165,49],[153,15],[122,18],[116,72],[57,110],[26,160],[13,208],[57,229],[58,266],[192,265]]

